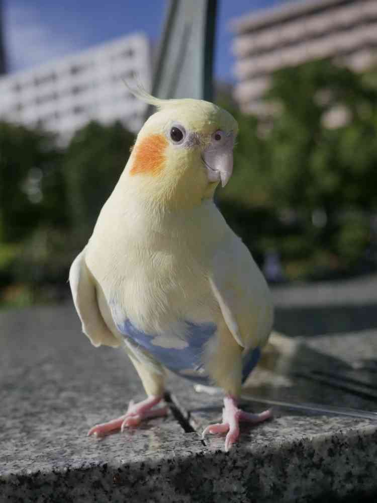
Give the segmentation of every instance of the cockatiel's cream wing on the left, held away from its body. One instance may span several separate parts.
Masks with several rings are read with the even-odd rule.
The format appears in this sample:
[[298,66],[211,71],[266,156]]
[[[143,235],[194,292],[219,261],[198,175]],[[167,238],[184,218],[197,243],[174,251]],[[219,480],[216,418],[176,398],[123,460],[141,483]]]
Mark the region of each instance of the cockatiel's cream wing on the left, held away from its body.
[[75,258],[69,270],[69,284],[82,331],[93,346],[121,346],[121,341],[113,335],[102,317],[96,284],[85,263],[85,249]]

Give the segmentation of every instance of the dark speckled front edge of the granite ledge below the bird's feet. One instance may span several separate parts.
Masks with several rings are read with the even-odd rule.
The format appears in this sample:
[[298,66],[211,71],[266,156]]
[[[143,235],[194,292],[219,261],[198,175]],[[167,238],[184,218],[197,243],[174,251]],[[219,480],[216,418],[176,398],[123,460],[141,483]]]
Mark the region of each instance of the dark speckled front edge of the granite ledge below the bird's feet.
[[[258,429],[251,430],[255,435]],[[111,444],[119,440],[111,437]],[[210,437],[204,445],[195,433],[160,433],[160,448],[150,455],[120,440],[116,454],[106,455],[105,449],[92,462],[65,459],[52,462],[49,470],[36,466],[0,474],[0,501],[309,503],[376,491],[375,426],[255,443],[243,429],[229,453],[222,437]],[[96,450],[96,441],[88,442],[89,450]]]

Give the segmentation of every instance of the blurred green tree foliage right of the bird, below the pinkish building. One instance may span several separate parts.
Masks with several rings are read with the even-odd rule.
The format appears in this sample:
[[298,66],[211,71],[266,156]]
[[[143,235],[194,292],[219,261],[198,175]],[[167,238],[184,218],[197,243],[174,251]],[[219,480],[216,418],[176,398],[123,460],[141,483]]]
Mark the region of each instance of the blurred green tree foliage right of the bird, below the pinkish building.
[[278,70],[265,102],[268,119],[236,112],[236,171],[220,205],[257,256],[279,251],[291,277],[354,266],[377,208],[375,81],[311,61]]

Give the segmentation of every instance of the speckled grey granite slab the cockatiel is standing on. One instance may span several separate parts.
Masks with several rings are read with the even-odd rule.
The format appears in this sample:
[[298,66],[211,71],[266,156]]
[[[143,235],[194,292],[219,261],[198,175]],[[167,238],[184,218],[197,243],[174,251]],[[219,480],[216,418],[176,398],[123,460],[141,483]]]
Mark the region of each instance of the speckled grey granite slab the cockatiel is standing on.
[[[365,348],[374,336],[362,334]],[[353,358],[351,339],[339,336],[338,352],[326,341],[300,346],[306,369],[321,358],[337,368],[340,351]],[[263,386],[249,381],[248,393],[377,409],[365,397],[280,374]],[[176,377],[169,384],[198,431],[219,416],[221,396],[198,394]],[[277,410],[274,420],[243,427],[227,454],[222,437],[203,443],[172,414],[103,440],[86,437],[89,426],[143,396],[126,355],[93,348],[70,304],[0,313],[0,503],[304,503],[377,491],[377,423],[369,420]]]

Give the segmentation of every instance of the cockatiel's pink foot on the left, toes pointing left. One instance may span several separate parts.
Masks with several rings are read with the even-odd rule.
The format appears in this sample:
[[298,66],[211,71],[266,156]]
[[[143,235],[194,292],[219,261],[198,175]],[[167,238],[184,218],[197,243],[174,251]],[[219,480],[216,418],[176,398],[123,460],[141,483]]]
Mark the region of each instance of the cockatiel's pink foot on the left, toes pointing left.
[[161,396],[149,396],[139,403],[134,403],[133,400],[131,400],[127,412],[124,415],[121,415],[113,421],[109,421],[109,423],[102,423],[101,425],[93,426],[93,428],[90,428],[88,431],[88,435],[94,434],[96,437],[104,437],[105,435],[114,433],[118,430],[123,432],[123,430],[129,426],[138,426],[143,419],[166,415],[168,407],[158,407],[152,409],[152,407],[157,405],[161,399]]

